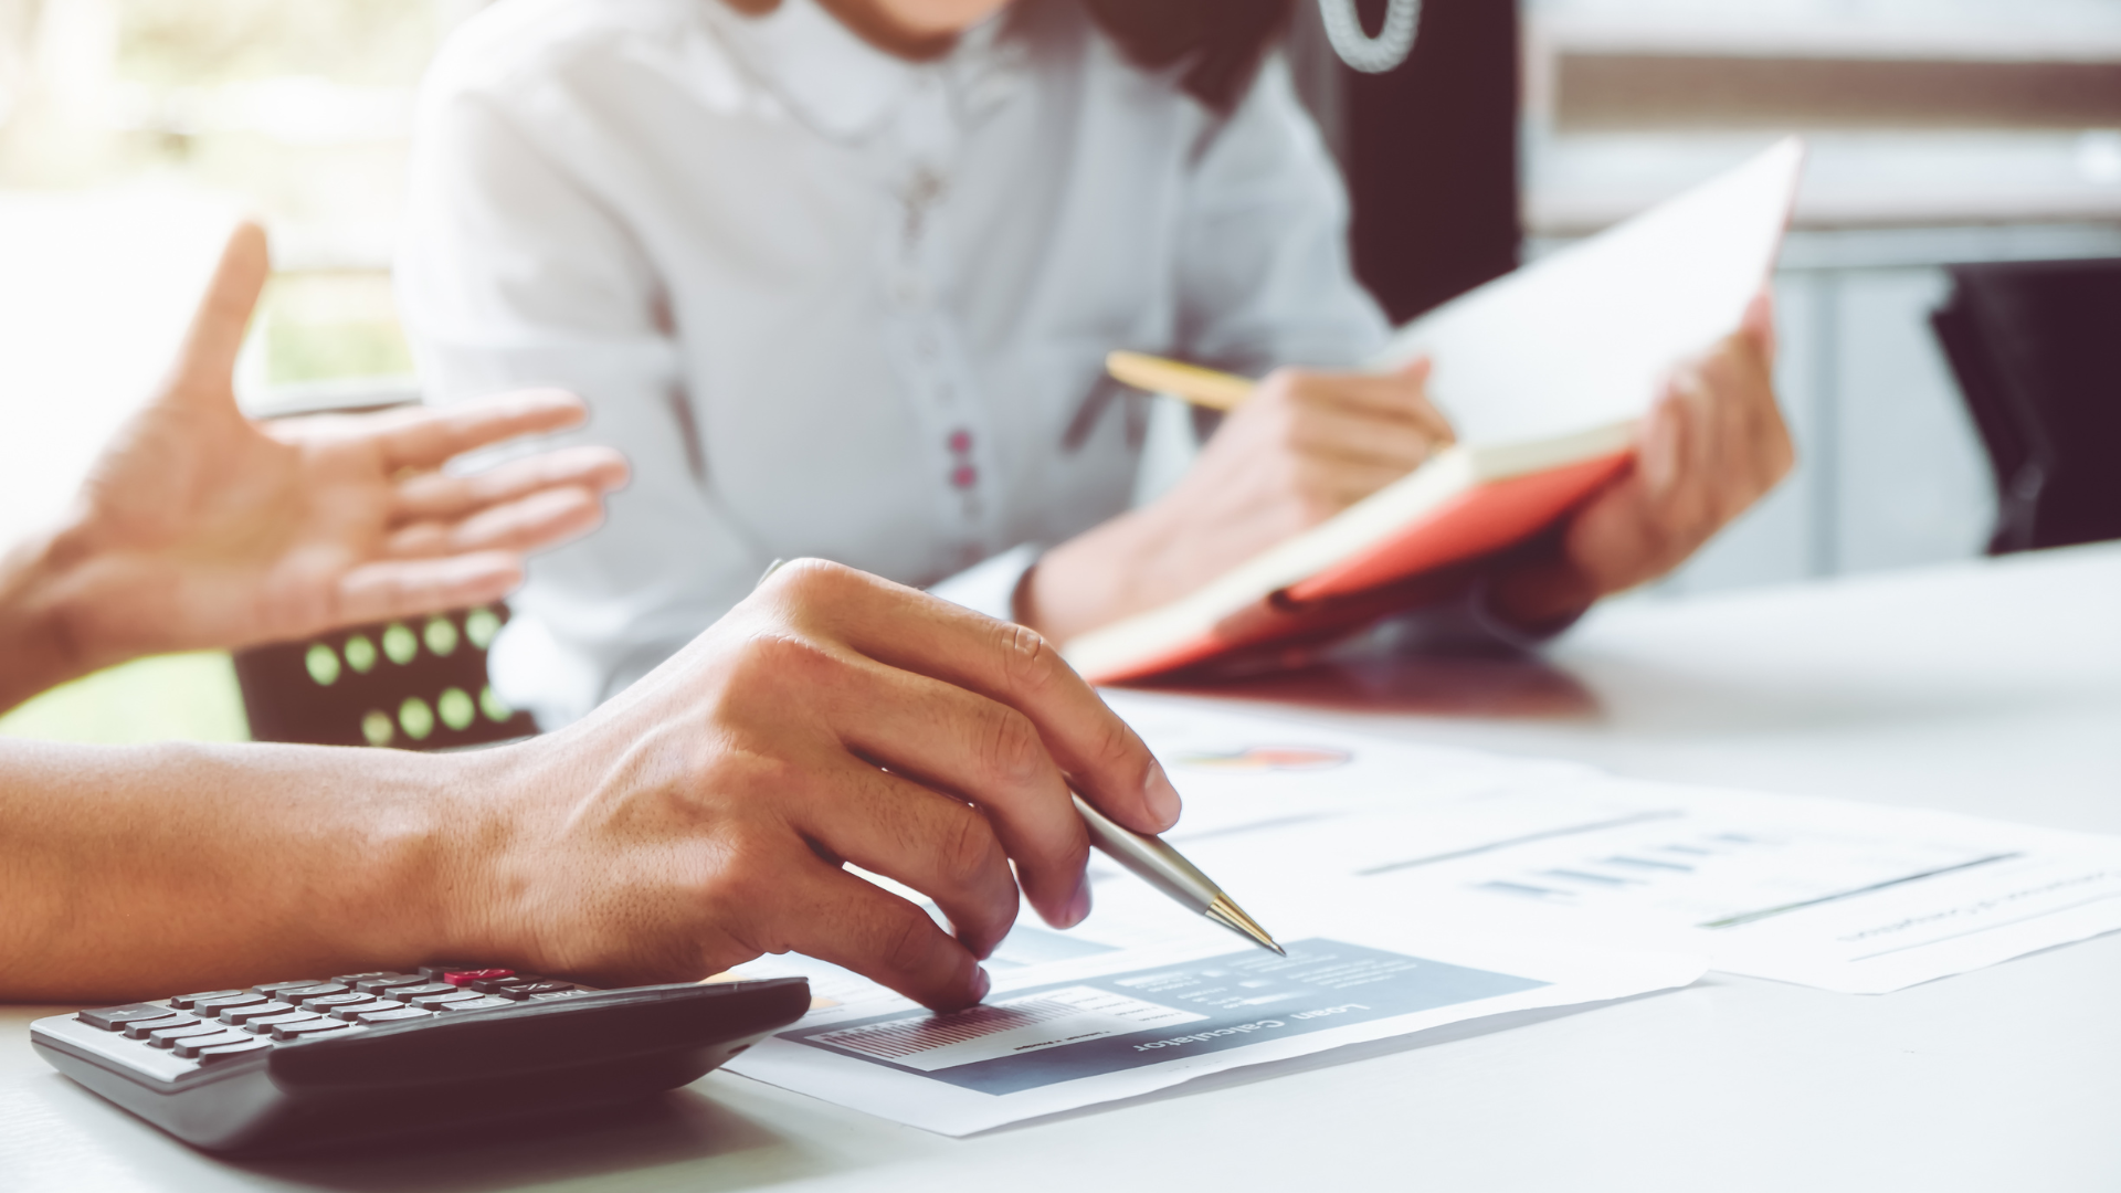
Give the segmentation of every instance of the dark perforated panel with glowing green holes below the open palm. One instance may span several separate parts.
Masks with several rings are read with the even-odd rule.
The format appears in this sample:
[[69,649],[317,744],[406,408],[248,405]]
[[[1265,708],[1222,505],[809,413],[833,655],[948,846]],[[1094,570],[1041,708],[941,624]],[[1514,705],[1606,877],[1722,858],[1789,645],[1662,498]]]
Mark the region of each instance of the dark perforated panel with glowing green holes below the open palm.
[[507,605],[375,622],[235,654],[255,741],[452,749],[537,732],[486,681]]

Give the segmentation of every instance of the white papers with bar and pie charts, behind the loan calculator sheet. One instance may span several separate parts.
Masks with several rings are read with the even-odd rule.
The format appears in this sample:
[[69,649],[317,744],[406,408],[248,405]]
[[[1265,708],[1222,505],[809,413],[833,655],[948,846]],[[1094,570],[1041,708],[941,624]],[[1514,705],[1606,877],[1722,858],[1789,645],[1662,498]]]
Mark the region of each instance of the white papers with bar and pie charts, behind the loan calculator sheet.
[[2115,836],[1109,698],[1186,796],[1167,838],[1268,928],[1277,911],[1391,909],[1453,932],[1699,951],[1724,972],[1847,993],[2121,930]]

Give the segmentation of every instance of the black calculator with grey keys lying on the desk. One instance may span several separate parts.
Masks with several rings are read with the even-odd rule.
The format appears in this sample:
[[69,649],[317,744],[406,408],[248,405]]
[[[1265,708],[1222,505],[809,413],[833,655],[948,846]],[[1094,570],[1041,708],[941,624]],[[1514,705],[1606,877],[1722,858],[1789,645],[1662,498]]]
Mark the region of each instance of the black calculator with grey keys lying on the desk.
[[55,1015],[30,1042],[193,1146],[269,1153],[649,1097],[808,1008],[804,979],[590,989],[424,966]]

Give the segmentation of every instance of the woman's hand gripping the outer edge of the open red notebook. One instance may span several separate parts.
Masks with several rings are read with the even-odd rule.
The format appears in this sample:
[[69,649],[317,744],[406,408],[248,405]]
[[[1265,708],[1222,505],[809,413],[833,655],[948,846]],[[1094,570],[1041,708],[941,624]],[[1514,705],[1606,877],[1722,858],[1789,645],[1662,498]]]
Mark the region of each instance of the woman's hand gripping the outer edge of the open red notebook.
[[1763,291],[1741,331],[1673,369],[1642,420],[1633,469],[1489,580],[1493,611],[1527,628],[1567,624],[1599,596],[1665,575],[1752,507],[1796,461],[1773,361]]

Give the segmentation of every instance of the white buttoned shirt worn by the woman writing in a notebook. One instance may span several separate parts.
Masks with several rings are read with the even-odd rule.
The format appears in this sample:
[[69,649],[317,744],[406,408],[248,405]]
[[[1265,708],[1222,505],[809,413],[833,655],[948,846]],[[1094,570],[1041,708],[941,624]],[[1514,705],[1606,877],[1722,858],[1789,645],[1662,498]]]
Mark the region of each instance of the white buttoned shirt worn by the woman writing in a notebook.
[[1345,208],[1279,59],[1220,117],[1075,0],[929,64],[814,0],[503,0],[424,89],[401,306],[431,399],[573,388],[634,482],[532,563],[496,686],[562,724],[772,558],[927,586],[1120,514],[1141,408],[1107,350],[1383,342]]

